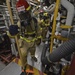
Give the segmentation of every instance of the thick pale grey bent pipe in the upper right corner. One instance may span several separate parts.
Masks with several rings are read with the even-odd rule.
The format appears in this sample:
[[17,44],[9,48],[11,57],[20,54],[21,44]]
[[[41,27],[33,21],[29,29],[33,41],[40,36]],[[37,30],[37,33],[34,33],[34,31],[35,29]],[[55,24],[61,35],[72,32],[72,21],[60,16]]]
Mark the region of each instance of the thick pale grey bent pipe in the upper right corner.
[[61,5],[67,9],[66,25],[72,25],[74,18],[74,6],[68,0],[61,0]]

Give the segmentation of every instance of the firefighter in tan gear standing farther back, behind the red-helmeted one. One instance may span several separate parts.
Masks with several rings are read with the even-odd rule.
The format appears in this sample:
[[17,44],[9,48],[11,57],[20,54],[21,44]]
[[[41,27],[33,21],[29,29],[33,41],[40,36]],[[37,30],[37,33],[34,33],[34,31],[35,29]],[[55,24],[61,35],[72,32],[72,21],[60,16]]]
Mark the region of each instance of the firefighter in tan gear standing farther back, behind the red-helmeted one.
[[49,26],[50,26],[50,15],[47,12],[40,12],[40,17],[39,17],[39,25],[42,28],[42,41],[45,42],[46,41],[46,34],[49,30]]

